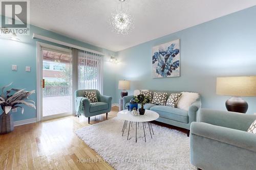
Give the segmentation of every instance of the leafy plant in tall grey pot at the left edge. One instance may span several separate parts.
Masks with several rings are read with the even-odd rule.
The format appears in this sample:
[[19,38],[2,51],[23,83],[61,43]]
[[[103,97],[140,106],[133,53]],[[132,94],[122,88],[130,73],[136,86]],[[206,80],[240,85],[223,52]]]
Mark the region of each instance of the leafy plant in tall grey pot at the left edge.
[[[11,83],[12,84],[12,83]],[[35,90],[25,91],[25,89],[13,89],[6,90],[4,89],[11,84],[4,86],[2,88],[2,93],[0,96],[0,106],[3,110],[3,113],[0,115],[0,134],[9,133],[13,131],[13,119],[11,110],[15,108],[21,108],[22,114],[24,113],[24,107],[19,106],[20,104],[24,104],[29,107],[35,108],[35,102],[29,100],[28,96],[35,93]]]

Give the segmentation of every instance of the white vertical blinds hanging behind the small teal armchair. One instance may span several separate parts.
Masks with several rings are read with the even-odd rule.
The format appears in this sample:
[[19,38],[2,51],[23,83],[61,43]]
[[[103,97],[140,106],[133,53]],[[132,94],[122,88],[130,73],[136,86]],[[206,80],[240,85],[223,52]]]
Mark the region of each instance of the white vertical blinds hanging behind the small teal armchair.
[[97,89],[103,93],[103,56],[78,52],[78,89]]

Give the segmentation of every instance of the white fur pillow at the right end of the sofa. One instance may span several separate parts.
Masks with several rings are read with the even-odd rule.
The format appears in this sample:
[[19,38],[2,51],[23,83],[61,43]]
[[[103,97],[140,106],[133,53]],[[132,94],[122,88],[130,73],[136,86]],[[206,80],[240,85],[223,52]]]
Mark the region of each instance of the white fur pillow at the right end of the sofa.
[[192,103],[196,102],[199,98],[198,93],[193,92],[181,92],[181,98],[177,104],[177,108],[188,111]]

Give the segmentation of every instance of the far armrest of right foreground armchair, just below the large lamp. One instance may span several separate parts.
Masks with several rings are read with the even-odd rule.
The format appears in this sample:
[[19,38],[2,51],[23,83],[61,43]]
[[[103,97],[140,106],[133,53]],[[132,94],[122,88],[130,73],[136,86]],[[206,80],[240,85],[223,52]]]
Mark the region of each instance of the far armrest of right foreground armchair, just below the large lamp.
[[255,119],[256,115],[229,111],[200,109],[198,122],[204,122],[211,125],[247,131]]

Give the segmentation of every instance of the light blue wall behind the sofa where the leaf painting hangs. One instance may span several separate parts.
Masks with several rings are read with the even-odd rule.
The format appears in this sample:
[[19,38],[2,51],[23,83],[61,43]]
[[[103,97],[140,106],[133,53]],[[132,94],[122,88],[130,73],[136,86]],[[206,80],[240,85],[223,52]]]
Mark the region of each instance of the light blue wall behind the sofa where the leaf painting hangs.
[[[216,94],[216,78],[256,76],[256,7],[191,27],[118,53],[118,80],[131,80],[134,89],[195,91],[202,107],[225,109],[229,96]],[[163,26],[164,27],[164,26]],[[152,79],[152,47],[180,39],[180,77]],[[116,90],[116,102],[120,90]],[[256,113],[256,97],[244,98],[249,114]]]

